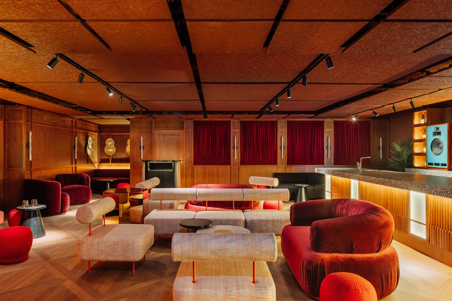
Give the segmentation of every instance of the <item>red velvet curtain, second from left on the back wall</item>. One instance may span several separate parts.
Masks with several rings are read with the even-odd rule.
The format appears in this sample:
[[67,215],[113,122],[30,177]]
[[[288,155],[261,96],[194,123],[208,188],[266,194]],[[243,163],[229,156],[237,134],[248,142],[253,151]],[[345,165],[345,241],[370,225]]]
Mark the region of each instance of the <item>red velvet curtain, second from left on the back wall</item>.
[[277,121],[240,122],[240,164],[277,165]]

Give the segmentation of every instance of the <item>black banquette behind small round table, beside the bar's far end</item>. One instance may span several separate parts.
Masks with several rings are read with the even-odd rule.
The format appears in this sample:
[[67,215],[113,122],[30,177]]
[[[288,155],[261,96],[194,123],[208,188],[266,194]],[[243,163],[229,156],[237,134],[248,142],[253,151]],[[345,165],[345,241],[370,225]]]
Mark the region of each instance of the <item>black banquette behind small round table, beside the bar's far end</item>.
[[278,179],[278,188],[287,188],[290,193],[289,200],[295,200],[297,196],[297,187],[294,184],[309,184],[309,199],[325,199],[325,175],[316,172],[275,172],[275,178]]

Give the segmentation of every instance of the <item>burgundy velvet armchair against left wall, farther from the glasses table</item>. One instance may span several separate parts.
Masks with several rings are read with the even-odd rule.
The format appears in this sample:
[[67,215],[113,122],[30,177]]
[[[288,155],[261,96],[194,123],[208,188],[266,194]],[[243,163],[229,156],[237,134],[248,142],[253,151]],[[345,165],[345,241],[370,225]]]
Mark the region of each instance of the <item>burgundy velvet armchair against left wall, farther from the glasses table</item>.
[[66,173],[55,176],[61,183],[61,191],[69,194],[70,204],[86,204],[91,200],[89,176],[85,173]]

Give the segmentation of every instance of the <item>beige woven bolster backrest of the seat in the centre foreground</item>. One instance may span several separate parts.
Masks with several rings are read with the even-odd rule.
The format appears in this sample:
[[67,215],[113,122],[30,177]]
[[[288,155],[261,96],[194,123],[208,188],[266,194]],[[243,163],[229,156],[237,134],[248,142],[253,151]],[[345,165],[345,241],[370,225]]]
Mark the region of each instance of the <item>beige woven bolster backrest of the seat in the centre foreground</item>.
[[273,233],[174,233],[173,261],[276,261]]

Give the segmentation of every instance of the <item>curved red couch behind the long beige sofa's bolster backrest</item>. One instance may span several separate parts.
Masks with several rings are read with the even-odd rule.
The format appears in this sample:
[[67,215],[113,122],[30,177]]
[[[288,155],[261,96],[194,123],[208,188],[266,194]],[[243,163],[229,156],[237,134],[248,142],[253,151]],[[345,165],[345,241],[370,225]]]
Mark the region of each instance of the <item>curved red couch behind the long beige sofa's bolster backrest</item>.
[[[190,186],[190,188],[254,188],[252,185],[246,184],[197,184]],[[265,188],[265,186],[259,186],[258,188]],[[208,201],[207,202],[207,210],[218,210],[218,209],[232,209],[232,201]],[[262,206],[256,200],[254,204],[251,202],[234,202],[234,208],[239,210],[251,209],[262,209]],[[206,202],[205,201],[188,201],[185,204],[185,209],[195,209],[196,211],[206,210]]]

